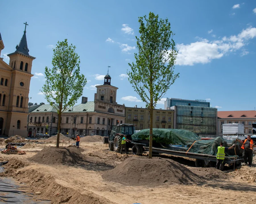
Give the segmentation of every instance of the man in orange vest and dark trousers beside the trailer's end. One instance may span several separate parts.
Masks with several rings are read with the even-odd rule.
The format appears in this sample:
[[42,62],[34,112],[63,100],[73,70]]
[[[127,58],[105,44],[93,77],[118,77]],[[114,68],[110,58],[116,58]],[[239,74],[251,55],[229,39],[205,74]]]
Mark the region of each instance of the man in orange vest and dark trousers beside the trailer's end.
[[247,139],[245,140],[240,140],[236,139],[236,141],[240,142],[242,144],[241,148],[243,149],[243,160],[245,165],[248,165],[251,167],[251,163],[253,160],[253,140],[251,139],[251,136],[248,135]]

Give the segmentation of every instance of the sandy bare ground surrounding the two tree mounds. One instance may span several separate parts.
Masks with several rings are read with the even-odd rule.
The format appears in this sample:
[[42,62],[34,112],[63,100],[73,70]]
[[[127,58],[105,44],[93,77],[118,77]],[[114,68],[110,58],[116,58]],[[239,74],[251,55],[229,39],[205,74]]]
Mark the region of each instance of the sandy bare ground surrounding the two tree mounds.
[[[71,143],[70,143],[71,144]],[[62,143],[61,143],[62,145]],[[60,146],[61,146],[60,145]],[[65,146],[65,142],[63,146]],[[1,147],[3,147],[2,145]],[[235,172],[226,171],[229,179],[209,179],[197,184],[174,184],[158,187],[125,186],[102,179],[102,174],[133,155],[120,154],[108,150],[108,144],[101,142],[81,143],[82,154],[95,157],[97,162],[84,165],[42,165],[28,161],[38,151],[55,144],[33,144],[25,155],[0,154],[1,161],[9,160],[11,166],[6,167],[1,176],[13,177],[17,183],[27,185],[27,192],[40,191],[34,195],[37,198],[52,200],[51,203],[251,203],[255,202],[256,175],[255,157],[253,167],[239,167]],[[144,155],[146,156],[146,155]],[[163,156],[166,158],[166,156]],[[168,156],[170,159],[174,158]],[[176,161],[179,159],[174,158]],[[186,160],[180,159],[183,165]],[[188,167],[193,172],[202,169],[193,167],[193,162],[187,160]],[[247,177],[245,176],[247,175]],[[115,175],[113,175],[115,176]]]

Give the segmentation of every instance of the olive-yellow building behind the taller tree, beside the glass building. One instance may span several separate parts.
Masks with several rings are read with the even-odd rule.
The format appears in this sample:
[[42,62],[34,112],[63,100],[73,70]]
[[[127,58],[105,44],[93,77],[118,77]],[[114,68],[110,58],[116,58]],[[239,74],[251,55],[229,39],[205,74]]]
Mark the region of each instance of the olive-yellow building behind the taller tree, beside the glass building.
[[[125,123],[134,124],[136,130],[148,129],[150,111],[146,108],[125,107]],[[174,128],[174,110],[153,110],[153,128]]]

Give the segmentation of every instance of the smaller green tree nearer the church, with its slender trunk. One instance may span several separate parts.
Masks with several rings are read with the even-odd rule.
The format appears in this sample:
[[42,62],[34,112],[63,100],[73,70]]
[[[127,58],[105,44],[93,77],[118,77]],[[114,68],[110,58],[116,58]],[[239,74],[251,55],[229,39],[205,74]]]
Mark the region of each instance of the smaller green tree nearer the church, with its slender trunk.
[[[42,88],[48,103],[56,108],[58,113],[57,145],[59,147],[59,133],[61,113],[72,107],[82,95],[86,78],[80,75],[80,58],[75,52],[76,46],[68,45],[67,39],[57,43],[53,49],[52,68],[45,67],[46,82]],[[55,104],[52,103],[55,101]]]

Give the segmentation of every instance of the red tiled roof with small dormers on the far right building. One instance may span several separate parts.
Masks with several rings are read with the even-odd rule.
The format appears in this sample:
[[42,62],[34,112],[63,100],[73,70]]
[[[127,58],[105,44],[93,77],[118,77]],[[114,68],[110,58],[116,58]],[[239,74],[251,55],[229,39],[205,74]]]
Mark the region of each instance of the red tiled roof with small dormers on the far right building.
[[218,111],[218,118],[256,118],[256,111]]

